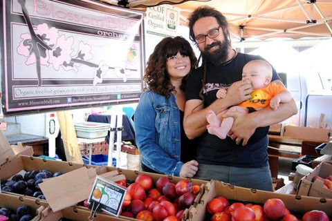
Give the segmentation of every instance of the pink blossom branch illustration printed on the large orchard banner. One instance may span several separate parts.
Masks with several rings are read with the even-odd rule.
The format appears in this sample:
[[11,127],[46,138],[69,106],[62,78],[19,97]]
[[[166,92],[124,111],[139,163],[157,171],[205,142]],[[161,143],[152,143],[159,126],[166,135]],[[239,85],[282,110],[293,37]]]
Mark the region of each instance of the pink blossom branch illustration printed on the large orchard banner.
[[77,51],[75,52],[75,38],[72,36],[59,35],[59,30],[55,27],[49,27],[46,23],[37,25],[36,29],[33,28],[33,23],[28,15],[25,0],[18,0],[21,4],[24,19],[29,28],[28,33],[21,34],[21,42],[17,47],[17,53],[26,57],[26,65],[36,65],[38,86],[42,86],[42,70],[41,66],[52,66],[54,70],[78,72],[78,68],[84,64],[94,68],[91,72],[91,79],[93,79],[93,86],[102,84],[103,77],[109,69],[113,73],[127,81],[127,77],[131,71],[136,69],[127,68],[130,63],[136,61],[137,52],[135,48],[130,48],[127,54],[127,61],[122,62],[118,67],[111,67],[104,64],[104,61],[99,61],[99,64],[90,61],[93,59],[91,53],[91,46],[85,44],[83,41],[79,42]]

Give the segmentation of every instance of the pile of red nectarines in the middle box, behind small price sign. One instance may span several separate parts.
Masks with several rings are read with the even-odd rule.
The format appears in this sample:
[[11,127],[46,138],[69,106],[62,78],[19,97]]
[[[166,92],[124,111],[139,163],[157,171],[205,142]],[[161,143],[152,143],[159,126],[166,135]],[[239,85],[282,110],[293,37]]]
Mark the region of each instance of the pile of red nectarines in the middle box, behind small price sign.
[[193,204],[199,189],[190,180],[174,184],[167,177],[159,177],[154,183],[151,176],[140,174],[127,186],[120,215],[138,220],[178,221]]

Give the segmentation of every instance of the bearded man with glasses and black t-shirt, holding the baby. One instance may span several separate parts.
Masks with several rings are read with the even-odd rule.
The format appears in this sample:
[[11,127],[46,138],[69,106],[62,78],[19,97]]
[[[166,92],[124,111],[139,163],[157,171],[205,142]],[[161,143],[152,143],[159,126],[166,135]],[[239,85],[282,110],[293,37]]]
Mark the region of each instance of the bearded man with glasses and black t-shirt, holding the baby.
[[[250,98],[250,81],[241,80],[243,66],[259,56],[236,52],[230,45],[228,23],[214,8],[197,8],[190,17],[190,38],[196,41],[203,64],[187,81],[184,128],[187,137],[200,137],[196,160],[199,171],[194,178],[221,180],[237,186],[272,191],[268,166],[268,126],[297,113],[294,100],[277,110],[266,107],[247,115],[230,113],[234,124],[225,140],[210,135],[206,115],[216,115]],[[279,81],[273,69],[273,81]],[[279,81],[279,84],[282,84]],[[224,99],[216,99],[220,88]],[[219,115],[219,117],[221,117]]]

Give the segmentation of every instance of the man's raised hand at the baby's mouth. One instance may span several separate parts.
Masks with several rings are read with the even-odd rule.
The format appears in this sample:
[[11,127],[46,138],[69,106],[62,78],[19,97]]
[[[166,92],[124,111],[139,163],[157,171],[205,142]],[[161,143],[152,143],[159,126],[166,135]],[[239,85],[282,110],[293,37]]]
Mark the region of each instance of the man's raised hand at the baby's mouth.
[[250,80],[236,81],[228,88],[225,99],[228,99],[230,106],[234,106],[250,99],[251,92]]

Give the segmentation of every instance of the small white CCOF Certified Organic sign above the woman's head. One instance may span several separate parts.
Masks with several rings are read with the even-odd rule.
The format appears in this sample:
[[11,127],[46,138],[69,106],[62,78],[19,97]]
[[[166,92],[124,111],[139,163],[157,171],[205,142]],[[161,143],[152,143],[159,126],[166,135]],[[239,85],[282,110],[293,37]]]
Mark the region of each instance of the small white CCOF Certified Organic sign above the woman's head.
[[149,34],[161,36],[178,35],[180,8],[161,5],[147,8],[145,13],[145,30]]

